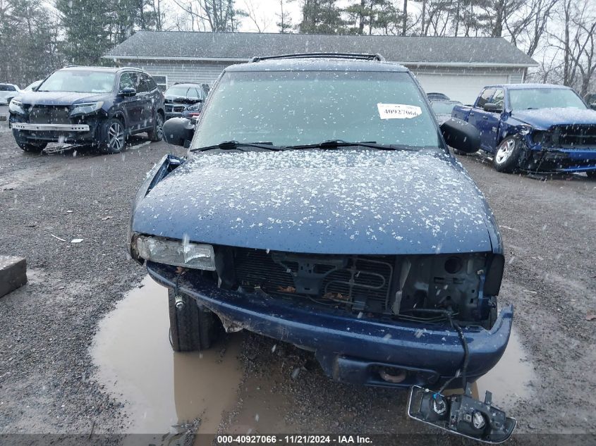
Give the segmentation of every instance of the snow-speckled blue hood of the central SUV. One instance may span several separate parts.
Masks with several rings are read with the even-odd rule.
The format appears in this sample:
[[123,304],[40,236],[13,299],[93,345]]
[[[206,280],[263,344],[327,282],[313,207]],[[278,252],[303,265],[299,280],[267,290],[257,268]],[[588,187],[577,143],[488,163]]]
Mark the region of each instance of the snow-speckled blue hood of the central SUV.
[[133,231],[312,254],[489,252],[482,193],[446,154],[205,152],[150,190]]

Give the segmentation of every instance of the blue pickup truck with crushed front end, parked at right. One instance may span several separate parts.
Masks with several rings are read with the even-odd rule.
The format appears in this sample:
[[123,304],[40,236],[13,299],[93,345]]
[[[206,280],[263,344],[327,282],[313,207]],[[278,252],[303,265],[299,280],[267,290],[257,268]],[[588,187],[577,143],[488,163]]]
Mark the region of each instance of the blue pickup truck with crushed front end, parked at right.
[[499,172],[585,172],[596,178],[596,111],[569,87],[489,85],[473,106],[455,106],[451,116],[480,130],[480,150]]

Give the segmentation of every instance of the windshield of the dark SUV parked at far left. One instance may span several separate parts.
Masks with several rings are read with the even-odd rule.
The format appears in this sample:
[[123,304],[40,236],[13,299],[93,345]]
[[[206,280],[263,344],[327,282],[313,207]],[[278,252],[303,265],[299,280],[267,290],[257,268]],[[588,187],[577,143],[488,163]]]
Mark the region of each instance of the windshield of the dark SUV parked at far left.
[[38,92],[109,93],[115,73],[105,71],[61,70],[52,73]]

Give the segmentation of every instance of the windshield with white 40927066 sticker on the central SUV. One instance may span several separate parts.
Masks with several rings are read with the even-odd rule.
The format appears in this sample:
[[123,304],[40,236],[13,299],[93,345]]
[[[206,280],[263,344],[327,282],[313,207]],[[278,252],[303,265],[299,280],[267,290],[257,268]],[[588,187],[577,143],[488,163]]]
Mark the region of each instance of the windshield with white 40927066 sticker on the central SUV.
[[230,140],[440,147],[432,112],[408,73],[229,72],[211,94],[193,148]]

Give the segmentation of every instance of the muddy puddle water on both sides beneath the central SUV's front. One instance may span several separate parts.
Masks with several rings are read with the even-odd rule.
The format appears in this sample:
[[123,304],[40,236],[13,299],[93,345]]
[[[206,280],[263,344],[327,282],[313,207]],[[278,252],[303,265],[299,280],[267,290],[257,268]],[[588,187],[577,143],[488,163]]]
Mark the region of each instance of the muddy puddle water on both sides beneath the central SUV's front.
[[[268,377],[242,380],[243,333],[226,335],[205,352],[172,352],[166,289],[149,277],[141,285],[99,323],[91,350],[98,366],[95,378],[125,404],[126,432],[172,433],[196,419],[198,433],[216,433],[220,423],[226,433],[300,431],[284,421],[296,408],[290,407],[293,395],[286,395],[283,385],[273,385],[274,380],[291,379],[276,375],[279,366],[270,364]],[[327,378],[321,374],[321,379]],[[530,395],[534,379],[513,332],[501,361],[475,383],[474,392],[483,399],[490,390],[494,404],[514,411],[516,401]]]

